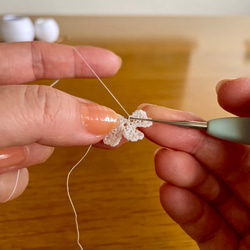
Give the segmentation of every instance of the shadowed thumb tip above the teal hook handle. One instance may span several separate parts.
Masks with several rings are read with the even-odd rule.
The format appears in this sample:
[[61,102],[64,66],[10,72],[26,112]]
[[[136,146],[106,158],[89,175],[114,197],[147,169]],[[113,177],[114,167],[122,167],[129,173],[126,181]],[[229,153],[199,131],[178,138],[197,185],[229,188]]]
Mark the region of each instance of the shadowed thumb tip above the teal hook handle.
[[250,116],[250,78],[220,81],[216,90],[222,108],[238,116]]

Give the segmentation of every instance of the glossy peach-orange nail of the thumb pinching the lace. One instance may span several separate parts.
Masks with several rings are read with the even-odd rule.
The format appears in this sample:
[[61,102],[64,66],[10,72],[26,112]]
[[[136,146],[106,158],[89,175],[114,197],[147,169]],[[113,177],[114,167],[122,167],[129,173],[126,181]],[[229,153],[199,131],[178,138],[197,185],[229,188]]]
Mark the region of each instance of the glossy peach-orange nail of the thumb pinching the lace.
[[117,126],[118,115],[95,103],[81,103],[81,121],[90,134],[105,135]]

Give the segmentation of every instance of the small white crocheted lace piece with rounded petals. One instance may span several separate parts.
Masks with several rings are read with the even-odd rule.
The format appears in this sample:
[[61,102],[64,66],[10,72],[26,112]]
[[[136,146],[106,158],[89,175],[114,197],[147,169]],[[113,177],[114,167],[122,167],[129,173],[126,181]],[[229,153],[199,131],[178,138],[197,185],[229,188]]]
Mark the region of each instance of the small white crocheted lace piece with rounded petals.
[[122,136],[124,136],[128,141],[135,142],[142,140],[144,134],[137,128],[147,128],[152,126],[153,123],[151,121],[130,119],[130,117],[148,119],[146,112],[141,109],[136,110],[128,118],[119,116],[118,125],[105,136],[103,142],[107,145],[115,147],[121,141]]

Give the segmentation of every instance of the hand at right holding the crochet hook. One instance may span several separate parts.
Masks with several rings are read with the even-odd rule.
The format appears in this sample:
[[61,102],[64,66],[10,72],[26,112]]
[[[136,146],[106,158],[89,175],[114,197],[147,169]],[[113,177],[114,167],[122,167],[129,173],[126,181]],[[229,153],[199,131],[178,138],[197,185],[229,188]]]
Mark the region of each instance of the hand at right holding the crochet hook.
[[[217,95],[225,110],[250,117],[249,78],[219,82]],[[202,120],[155,105],[139,108],[153,119]],[[143,132],[162,146],[155,153],[155,169],[164,181],[161,204],[172,219],[201,250],[250,249],[249,146],[166,124]]]

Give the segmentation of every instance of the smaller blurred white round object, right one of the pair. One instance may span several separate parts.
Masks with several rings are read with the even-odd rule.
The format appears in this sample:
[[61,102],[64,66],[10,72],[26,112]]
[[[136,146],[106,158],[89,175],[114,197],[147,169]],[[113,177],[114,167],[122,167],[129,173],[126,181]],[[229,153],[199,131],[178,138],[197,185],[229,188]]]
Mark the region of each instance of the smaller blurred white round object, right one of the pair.
[[59,26],[53,18],[38,18],[35,21],[36,38],[45,42],[55,42],[60,33]]

